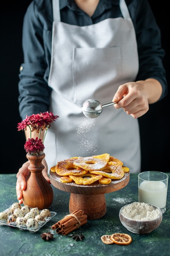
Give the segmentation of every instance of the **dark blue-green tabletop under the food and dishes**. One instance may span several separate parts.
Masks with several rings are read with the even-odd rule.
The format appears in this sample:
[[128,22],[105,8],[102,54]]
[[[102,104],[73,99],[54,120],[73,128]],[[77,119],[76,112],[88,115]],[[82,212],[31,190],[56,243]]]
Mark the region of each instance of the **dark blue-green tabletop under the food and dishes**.
[[[170,176],[170,173],[168,173]],[[0,212],[17,201],[16,175],[0,175]],[[53,187],[53,186],[52,186]],[[56,216],[36,233],[0,226],[0,256],[168,256],[170,255],[170,187],[168,185],[166,212],[161,225],[149,234],[133,234],[119,220],[119,210],[125,204],[138,201],[137,174],[130,174],[126,187],[105,194],[107,211],[97,220],[88,222],[70,234],[83,234],[83,241],[75,241],[69,235],[62,236],[51,229],[51,226],[69,214],[70,193],[53,187],[54,199],[51,211]],[[40,236],[43,232],[54,233],[49,242]],[[105,234],[126,233],[132,237],[130,245],[106,245],[100,237]]]

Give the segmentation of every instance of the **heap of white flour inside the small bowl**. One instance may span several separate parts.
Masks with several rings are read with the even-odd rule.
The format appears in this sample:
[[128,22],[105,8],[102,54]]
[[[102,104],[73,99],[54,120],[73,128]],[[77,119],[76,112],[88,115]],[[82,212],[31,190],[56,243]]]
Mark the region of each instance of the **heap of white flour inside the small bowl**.
[[154,220],[159,217],[159,209],[149,204],[133,202],[122,209],[122,215],[131,220]]

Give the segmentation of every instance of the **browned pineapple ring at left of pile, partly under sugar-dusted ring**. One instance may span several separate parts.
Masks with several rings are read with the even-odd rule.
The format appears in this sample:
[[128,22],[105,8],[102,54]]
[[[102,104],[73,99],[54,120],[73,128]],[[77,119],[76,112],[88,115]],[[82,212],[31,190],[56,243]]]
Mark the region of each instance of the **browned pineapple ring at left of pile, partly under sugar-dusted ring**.
[[68,175],[82,175],[86,174],[88,171],[78,168],[73,165],[75,159],[66,159],[64,161],[60,161],[55,166],[55,171],[60,176],[68,176]]

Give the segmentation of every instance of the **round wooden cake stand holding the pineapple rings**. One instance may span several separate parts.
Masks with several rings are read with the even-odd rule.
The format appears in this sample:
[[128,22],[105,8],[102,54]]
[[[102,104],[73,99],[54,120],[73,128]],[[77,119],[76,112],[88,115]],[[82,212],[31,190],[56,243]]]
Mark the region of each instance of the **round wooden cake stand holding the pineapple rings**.
[[82,210],[88,220],[101,218],[106,213],[105,193],[110,193],[124,188],[129,180],[130,173],[125,173],[120,180],[113,180],[108,185],[94,182],[92,185],[77,185],[75,182],[62,183],[60,175],[50,171],[50,181],[53,186],[62,191],[71,193],[69,200],[69,213]]

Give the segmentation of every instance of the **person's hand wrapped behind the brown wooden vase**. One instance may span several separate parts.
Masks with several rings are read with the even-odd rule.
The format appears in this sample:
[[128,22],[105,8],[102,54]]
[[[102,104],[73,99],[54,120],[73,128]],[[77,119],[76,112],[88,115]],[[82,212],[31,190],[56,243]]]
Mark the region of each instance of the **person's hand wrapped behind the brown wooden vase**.
[[[17,194],[17,199],[20,204],[22,204],[22,191],[26,189],[26,180],[28,180],[30,176],[30,171],[28,169],[30,162],[27,161],[25,162],[22,167],[19,169],[16,177],[17,177],[17,182],[16,182],[16,194]],[[48,166],[46,164],[45,159],[42,160],[42,164],[44,165],[44,169],[42,170],[42,175],[44,178],[47,180],[47,182],[50,182],[49,176],[48,176]]]

